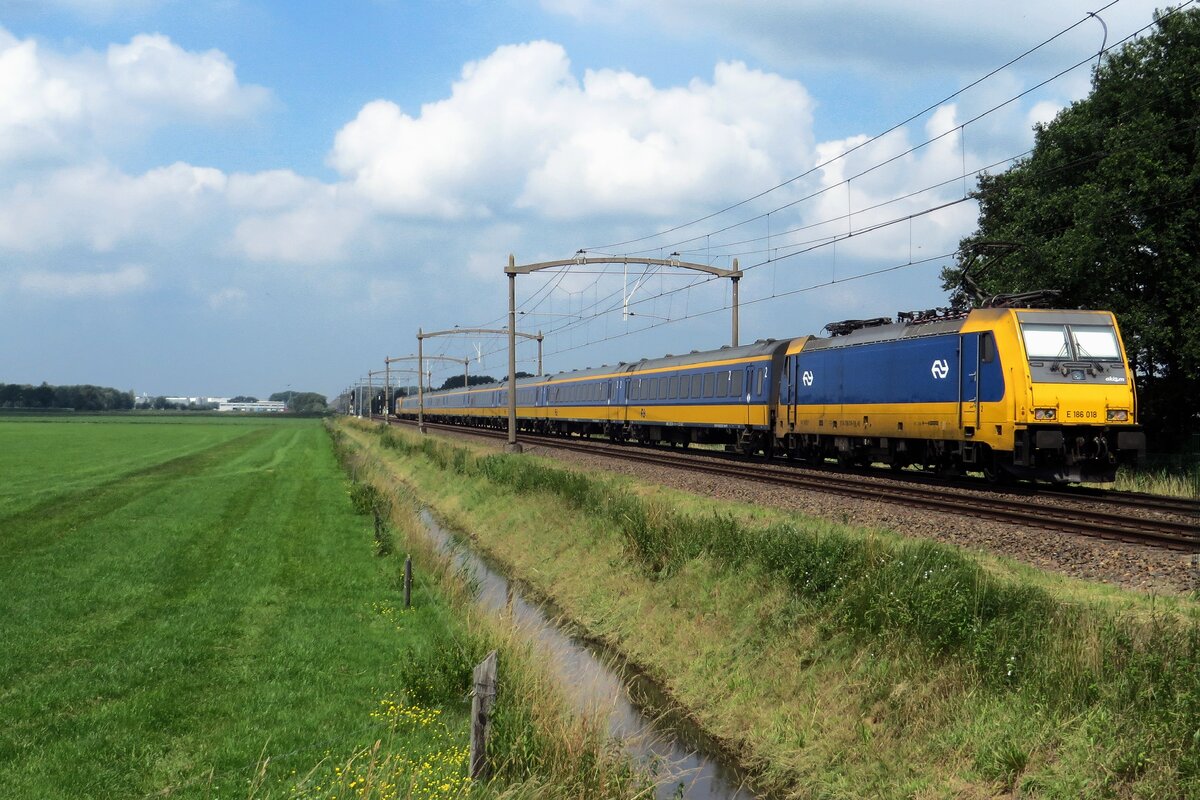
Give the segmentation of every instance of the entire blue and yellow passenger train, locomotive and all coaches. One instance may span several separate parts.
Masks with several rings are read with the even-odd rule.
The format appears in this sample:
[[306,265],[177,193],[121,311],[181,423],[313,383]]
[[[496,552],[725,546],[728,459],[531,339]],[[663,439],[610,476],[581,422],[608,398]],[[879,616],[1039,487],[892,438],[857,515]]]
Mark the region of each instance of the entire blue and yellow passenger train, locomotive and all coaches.
[[[517,426],[991,480],[1106,482],[1145,456],[1111,312],[934,309],[824,330],[522,378]],[[394,410],[416,419],[418,396]],[[508,385],[425,392],[424,417],[505,427]]]

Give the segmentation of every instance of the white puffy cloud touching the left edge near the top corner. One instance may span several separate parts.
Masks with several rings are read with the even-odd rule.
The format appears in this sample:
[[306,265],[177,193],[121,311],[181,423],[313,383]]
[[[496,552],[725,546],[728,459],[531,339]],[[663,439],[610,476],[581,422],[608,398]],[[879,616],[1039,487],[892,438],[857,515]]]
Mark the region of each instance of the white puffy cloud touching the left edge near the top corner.
[[137,140],[178,121],[245,118],[269,98],[241,84],[223,53],[192,53],[160,34],[104,54],[59,54],[0,28],[0,167],[77,160],[97,143]]

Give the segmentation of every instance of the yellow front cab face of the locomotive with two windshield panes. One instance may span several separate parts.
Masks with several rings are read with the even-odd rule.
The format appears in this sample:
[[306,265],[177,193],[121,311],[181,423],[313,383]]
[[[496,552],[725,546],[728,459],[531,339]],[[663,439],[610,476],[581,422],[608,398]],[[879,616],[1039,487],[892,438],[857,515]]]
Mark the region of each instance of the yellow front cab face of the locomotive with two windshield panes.
[[1014,471],[1054,481],[1111,481],[1145,453],[1136,393],[1116,320],[1097,311],[1016,311],[1025,391]]

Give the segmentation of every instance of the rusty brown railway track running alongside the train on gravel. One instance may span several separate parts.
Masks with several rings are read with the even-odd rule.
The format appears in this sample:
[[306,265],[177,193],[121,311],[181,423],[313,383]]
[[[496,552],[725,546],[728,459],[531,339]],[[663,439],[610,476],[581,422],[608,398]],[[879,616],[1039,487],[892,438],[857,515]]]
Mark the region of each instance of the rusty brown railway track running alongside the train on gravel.
[[[504,432],[486,428],[464,428],[462,426],[432,425],[428,422],[426,427],[497,439],[506,438]],[[1016,495],[1013,493],[1000,494],[997,491],[967,494],[955,491],[952,487],[924,481],[910,481],[900,485],[893,481],[884,485],[871,480],[869,476],[846,476],[834,473],[818,473],[815,475],[793,473],[744,459],[732,461],[720,458],[721,453],[704,453],[700,456],[682,451],[654,451],[634,445],[612,445],[598,441],[584,443],[578,439],[564,439],[550,435],[533,437],[522,434],[522,438],[527,441],[530,439],[536,440],[546,447],[608,456],[626,462],[638,462],[671,469],[686,469],[720,477],[751,480],[806,492],[826,492],[860,500],[890,503],[924,511],[1008,522],[1111,541],[1152,545],[1154,547],[1182,552],[1200,552],[1200,516],[1198,516],[1196,522],[1181,522],[1178,519],[1144,517],[1133,513],[1136,510],[1176,516],[1200,515],[1200,504],[1189,500],[1115,492],[1081,494],[1079,492],[1062,492],[1058,489],[1028,489],[1026,492],[1018,489]],[[713,456],[718,458],[713,458]],[[979,487],[972,488],[978,489]],[[1031,497],[1064,497],[1070,498],[1075,503],[1092,503],[1100,507],[1050,506],[1030,503],[1028,498]]]

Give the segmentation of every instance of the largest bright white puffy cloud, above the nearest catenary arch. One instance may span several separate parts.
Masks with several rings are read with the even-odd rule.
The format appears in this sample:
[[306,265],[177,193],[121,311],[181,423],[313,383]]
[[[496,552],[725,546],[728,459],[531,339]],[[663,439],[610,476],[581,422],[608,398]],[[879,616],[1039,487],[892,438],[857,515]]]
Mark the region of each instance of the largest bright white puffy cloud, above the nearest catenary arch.
[[802,166],[811,118],[803,85],[742,64],[682,88],[614,70],[581,82],[560,46],[532,42],[468,64],[450,97],[418,116],[367,104],[330,162],[406,215],[670,216]]

